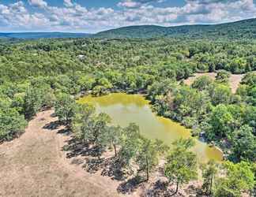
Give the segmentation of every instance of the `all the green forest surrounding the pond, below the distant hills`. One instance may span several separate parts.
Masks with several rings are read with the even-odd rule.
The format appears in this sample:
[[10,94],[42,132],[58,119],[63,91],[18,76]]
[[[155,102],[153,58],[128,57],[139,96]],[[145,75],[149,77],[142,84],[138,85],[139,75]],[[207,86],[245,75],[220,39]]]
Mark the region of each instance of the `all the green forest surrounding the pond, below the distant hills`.
[[[224,151],[228,162],[221,168],[212,161],[202,167],[206,195],[253,195],[255,55],[254,39],[3,39],[0,141],[21,136],[37,112],[55,107],[77,141],[101,150],[111,144],[119,164],[126,167],[131,160],[137,162],[147,180],[159,158],[167,154],[165,175],[178,191],[180,184],[197,177],[192,140],[180,139],[168,150],[160,141],[141,136],[137,125],[109,126],[107,114],[96,114],[92,106],[75,102],[88,93],[144,93],[156,113],[192,128],[194,136],[203,134]],[[195,72],[216,72],[216,80],[201,76],[191,86],[184,84]],[[245,74],[235,94],[228,83],[232,73]],[[213,186],[218,170],[226,176],[218,177]]]

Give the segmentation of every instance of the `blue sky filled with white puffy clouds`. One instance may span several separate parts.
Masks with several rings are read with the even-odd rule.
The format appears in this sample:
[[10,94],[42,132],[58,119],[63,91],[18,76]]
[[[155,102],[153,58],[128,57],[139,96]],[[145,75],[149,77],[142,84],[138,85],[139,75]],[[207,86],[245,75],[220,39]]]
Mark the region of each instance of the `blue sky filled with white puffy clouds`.
[[0,32],[95,33],[256,17],[256,0],[0,0]]

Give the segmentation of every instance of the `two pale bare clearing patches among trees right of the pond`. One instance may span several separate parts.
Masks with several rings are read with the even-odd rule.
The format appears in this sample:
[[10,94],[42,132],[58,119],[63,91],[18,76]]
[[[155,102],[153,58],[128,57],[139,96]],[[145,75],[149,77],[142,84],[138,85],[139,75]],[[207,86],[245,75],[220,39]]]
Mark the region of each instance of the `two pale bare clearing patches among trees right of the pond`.
[[[199,76],[209,76],[212,80],[215,80],[216,72],[204,72],[204,73],[196,73],[194,76],[190,76],[186,80],[184,80],[184,83],[187,85],[193,84],[194,80],[196,80]],[[232,74],[229,78],[229,84],[232,88],[232,93],[235,94],[235,91],[239,87],[239,84],[241,83],[244,75],[235,75]]]

